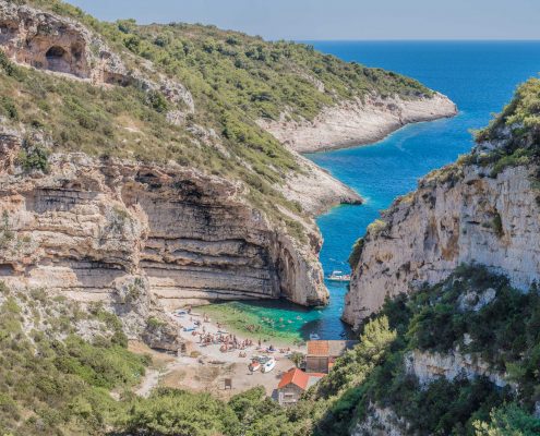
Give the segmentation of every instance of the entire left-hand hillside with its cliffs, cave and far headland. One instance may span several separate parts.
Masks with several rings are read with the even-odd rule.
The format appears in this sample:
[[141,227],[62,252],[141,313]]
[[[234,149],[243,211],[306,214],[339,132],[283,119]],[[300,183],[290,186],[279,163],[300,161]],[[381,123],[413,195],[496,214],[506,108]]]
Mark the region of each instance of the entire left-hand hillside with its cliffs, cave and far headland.
[[[0,1],[0,81],[9,89],[0,105],[0,274],[13,286],[123,304],[136,279],[168,307],[266,298],[324,304],[313,216],[361,199],[256,125],[262,112],[295,106],[276,71],[298,51],[300,63],[284,74],[313,101],[291,114],[322,111],[319,134],[352,112],[356,138],[362,125],[381,124],[380,134],[455,112],[412,80],[303,46],[256,40],[255,56],[245,35],[193,26],[197,38],[185,40],[182,25],[112,25],[61,2],[44,4]],[[205,59],[204,71],[185,61],[193,53]],[[239,58],[233,66],[231,57]],[[328,62],[333,89],[307,73]],[[242,65],[266,72],[277,90],[244,95],[254,78],[237,75]],[[223,71],[243,85],[217,83]],[[365,89],[373,97],[361,97]]]

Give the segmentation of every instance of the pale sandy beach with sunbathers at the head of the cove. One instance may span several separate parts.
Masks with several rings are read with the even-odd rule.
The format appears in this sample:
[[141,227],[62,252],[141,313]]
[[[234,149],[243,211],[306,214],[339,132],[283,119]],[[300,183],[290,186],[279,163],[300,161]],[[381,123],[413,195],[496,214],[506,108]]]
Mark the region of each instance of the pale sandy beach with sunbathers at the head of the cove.
[[[220,324],[218,327],[212,318],[206,318],[205,322],[203,311],[181,316],[171,312],[168,315],[178,325],[179,335],[188,343],[187,355],[175,356],[151,350],[141,342],[131,343],[132,351],[147,353],[153,360],[152,366],[135,390],[135,393],[142,397],[147,397],[152,389],[158,386],[208,391],[223,399],[228,399],[255,386],[263,386],[266,393],[272,396],[283,374],[295,366],[288,355],[295,351],[305,353],[305,347],[281,346],[279,349],[275,343],[276,351],[268,352],[267,348],[271,343],[262,342],[259,347],[255,334],[252,337],[236,335],[238,348],[232,347],[231,350],[224,352],[221,351],[224,342],[219,342],[217,338],[221,336],[225,340],[227,336],[235,337],[235,334],[227,330],[226,325]],[[184,328],[189,330],[194,328],[194,330],[184,331]],[[207,338],[214,336],[217,343],[201,343],[201,335]],[[252,344],[245,346],[250,341]],[[240,349],[242,342],[244,347]],[[229,342],[229,347],[231,343]],[[251,373],[249,364],[254,356],[259,355],[274,356],[276,360],[274,370],[266,374],[261,371]],[[232,379],[232,389],[225,389],[225,378]]]

